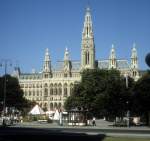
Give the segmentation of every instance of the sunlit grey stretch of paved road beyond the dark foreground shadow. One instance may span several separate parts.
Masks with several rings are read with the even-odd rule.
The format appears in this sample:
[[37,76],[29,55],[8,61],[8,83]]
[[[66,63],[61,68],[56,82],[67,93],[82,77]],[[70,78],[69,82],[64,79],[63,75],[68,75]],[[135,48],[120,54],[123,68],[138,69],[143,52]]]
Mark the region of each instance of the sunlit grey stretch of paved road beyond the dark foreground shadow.
[[[98,123],[98,122],[97,122]],[[34,129],[45,129],[46,131],[61,132],[61,133],[83,133],[87,135],[98,135],[104,134],[107,136],[129,136],[129,137],[144,137],[150,138],[149,127],[112,127],[108,126],[110,123],[100,121],[101,124],[97,126],[59,126],[57,123],[22,123],[11,126],[11,128],[34,128]],[[103,123],[103,124],[102,124]],[[107,125],[107,126],[106,126]]]

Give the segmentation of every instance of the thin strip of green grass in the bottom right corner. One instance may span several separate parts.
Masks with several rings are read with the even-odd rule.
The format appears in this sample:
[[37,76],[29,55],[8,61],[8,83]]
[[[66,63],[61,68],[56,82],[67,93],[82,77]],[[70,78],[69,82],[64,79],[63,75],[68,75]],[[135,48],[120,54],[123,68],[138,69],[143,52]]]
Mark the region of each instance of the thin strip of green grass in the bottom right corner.
[[103,141],[150,141],[150,139],[131,137],[106,137]]

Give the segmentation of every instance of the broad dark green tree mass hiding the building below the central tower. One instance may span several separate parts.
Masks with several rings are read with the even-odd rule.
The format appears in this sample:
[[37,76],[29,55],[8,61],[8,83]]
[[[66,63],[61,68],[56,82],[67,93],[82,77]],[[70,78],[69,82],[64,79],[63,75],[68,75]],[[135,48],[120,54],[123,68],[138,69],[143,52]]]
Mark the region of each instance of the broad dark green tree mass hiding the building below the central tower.
[[82,80],[75,85],[65,108],[82,107],[95,116],[123,116],[130,103],[132,79],[126,89],[125,78],[117,70],[85,70]]

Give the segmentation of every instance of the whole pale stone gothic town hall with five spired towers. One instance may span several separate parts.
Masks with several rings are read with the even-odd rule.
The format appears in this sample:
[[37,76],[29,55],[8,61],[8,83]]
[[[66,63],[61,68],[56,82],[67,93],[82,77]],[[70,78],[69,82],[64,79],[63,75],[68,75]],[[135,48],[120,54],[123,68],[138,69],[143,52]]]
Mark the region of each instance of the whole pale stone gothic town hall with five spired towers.
[[139,78],[138,56],[135,44],[131,50],[130,63],[126,59],[116,58],[115,48],[112,45],[109,58],[95,60],[94,33],[90,8],[86,8],[84,26],[82,31],[81,61],[71,61],[66,48],[63,61],[57,62],[55,68],[51,66],[48,49],[41,73],[21,73],[15,70],[24,96],[36,101],[41,107],[48,110],[62,108],[64,101],[71,95],[73,86],[81,80],[80,72],[84,69],[117,69],[122,75],[128,75],[134,80]]

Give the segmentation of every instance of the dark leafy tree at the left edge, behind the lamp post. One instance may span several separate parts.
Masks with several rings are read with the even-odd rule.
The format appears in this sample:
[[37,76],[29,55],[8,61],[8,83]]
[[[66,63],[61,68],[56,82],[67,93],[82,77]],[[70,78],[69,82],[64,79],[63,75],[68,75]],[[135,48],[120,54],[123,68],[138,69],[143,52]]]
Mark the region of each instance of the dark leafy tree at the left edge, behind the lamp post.
[[[5,76],[0,77],[0,101],[1,101],[1,110],[3,107],[4,100],[4,81]],[[19,111],[27,112],[31,106],[33,106],[33,102],[28,101],[23,97],[23,91],[20,88],[18,79],[12,77],[10,75],[6,75],[6,99],[5,105],[6,107],[15,107]]]

